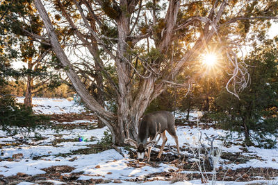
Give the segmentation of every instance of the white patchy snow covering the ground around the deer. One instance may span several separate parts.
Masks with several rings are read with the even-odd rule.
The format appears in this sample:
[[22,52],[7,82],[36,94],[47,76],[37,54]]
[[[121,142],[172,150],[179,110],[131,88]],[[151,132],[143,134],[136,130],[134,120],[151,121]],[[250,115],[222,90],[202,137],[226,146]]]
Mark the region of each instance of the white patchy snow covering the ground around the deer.
[[[19,98],[19,101],[22,101]],[[63,99],[46,99],[35,98],[33,100],[37,113],[43,114],[65,114],[65,113],[80,113],[84,109],[81,106],[74,105],[73,102]],[[182,119],[185,115],[177,114],[177,119]],[[197,123],[197,114],[190,114],[190,121]],[[96,121],[75,120],[53,124],[60,125],[82,125],[95,124]],[[199,123],[200,127],[206,123]],[[18,134],[16,136],[8,136],[6,132],[0,132],[1,145],[1,162],[0,162],[0,177],[3,182],[6,178],[17,178],[15,184],[68,184],[70,178],[72,181],[83,184],[89,181],[94,183],[104,184],[204,184],[198,178],[183,178],[180,182],[173,181],[174,177],[179,174],[189,175],[199,174],[198,170],[184,170],[179,168],[177,164],[172,162],[161,161],[154,163],[138,163],[135,159],[131,159],[129,150],[120,148],[124,157],[113,148],[108,148],[102,152],[91,152],[89,154],[78,151],[88,150],[91,146],[95,146],[104,137],[104,131],[107,127],[101,129],[88,130],[86,127],[74,129],[64,129],[56,132],[56,130],[38,130],[40,139],[35,137],[35,134],[30,135]],[[202,134],[200,134],[202,133]],[[177,135],[179,137],[179,145],[184,150],[181,152],[185,155],[192,155],[191,150],[195,150],[199,146],[199,137],[202,136],[202,143],[208,146],[209,142],[206,136],[225,137],[229,132],[224,130],[216,130],[213,127],[199,129],[195,125],[179,125],[177,127]],[[82,140],[80,138],[82,137]],[[169,143],[174,150],[174,139],[167,134],[167,144]],[[86,140],[86,141],[84,141]],[[232,133],[232,137],[223,143],[222,140],[215,140],[214,146],[222,149],[222,154],[228,156],[235,155],[238,157],[246,157],[245,162],[237,162],[220,158],[217,168],[229,172],[229,170],[238,170],[240,168],[272,168],[278,170],[278,150],[262,149],[255,147],[242,146],[243,139],[238,137],[236,133]],[[158,146],[161,145],[161,141]],[[229,143],[229,144],[228,144]],[[190,150],[188,149],[190,148]],[[166,149],[165,149],[166,150]],[[158,148],[153,148],[153,152],[159,151]],[[163,152],[163,155],[172,154],[170,151]],[[229,158],[229,157],[228,157]],[[236,159],[235,159],[236,160]],[[188,159],[194,164],[197,157]],[[44,177],[37,178],[39,175],[50,173],[50,169],[54,170],[54,174],[58,174],[57,178],[47,179]],[[67,170],[70,169],[70,170]],[[248,171],[245,171],[248,175]],[[239,173],[245,175],[245,173]],[[170,174],[163,176],[161,174]],[[208,173],[209,174],[209,173]],[[238,175],[238,173],[236,174]],[[229,181],[229,173],[227,173],[224,181],[217,181],[216,184],[278,184],[278,174],[272,175],[269,179],[265,179],[261,175],[248,176],[250,180],[244,180],[238,177],[237,181]],[[74,178],[73,178],[74,177]],[[184,176],[183,176],[184,177]],[[24,179],[25,178],[25,179]],[[67,179],[65,182],[64,179]],[[99,180],[101,179],[101,180]],[[210,180],[208,178],[208,180]],[[211,182],[208,181],[207,184]],[[0,181],[1,184],[1,181]],[[84,183],[85,184],[85,183]]]

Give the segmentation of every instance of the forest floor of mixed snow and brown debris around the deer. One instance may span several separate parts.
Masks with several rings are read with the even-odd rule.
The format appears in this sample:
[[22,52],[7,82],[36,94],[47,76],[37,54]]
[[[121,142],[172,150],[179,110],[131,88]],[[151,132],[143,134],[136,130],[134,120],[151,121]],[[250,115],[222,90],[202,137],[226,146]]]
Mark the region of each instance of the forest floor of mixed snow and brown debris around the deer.
[[[156,158],[160,141],[152,149],[151,160],[140,162],[134,148],[120,147],[120,154],[104,143],[107,127],[97,128],[97,120],[91,114],[51,116],[52,124],[60,130],[38,130],[40,137],[34,133],[8,136],[0,131],[0,184],[202,184],[198,159],[174,155],[171,150],[177,150],[169,134],[169,146],[165,146],[161,159]],[[222,139],[227,135],[227,131],[217,129],[213,123],[202,122],[197,127],[195,114],[190,114],[189,122],[181,115],[177,123],[184,154],[196,152],[200,132],[208,136],[218,134]],[[201,136],[205,142],[205,134]],[[277,182],[277,148],[245,147],[237,134],[226,139],[224,146],[222,139],[215,140],[215,148],[223,150],[216,168],[220,184]],[[207,170],[203,175],[209,180],[212,173]]]

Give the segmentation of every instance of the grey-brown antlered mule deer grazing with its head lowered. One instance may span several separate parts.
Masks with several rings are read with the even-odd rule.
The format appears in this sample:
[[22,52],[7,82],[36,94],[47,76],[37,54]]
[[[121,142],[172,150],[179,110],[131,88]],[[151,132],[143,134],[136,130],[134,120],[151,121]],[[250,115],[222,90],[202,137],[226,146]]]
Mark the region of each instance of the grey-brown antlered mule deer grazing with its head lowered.
[[[162,137],[163,143],[157,156],[157,158],[161,158],[161,154],[167,141],[165,130],[167,130],[167,132],[174,138],[179,152],[179,141],[176,134],[176,128],[174,127],[174,116],[171,112],[158,111],[145,115],[139,122],[137,141],[129,138],[128,128],[129,125],[126,127],[127,139],[124,140],[124,143],[129,143],[131,146],[135,146],[137,148],[137,158],[139,161],[144,159],[146,148],[148,148],[147,159],[149,161],[152,146],[158,143],[159,139]],[[156,140],[156,136],[158,136],[158,134],[160,136]],[[147,141],[148,138],[149,141]]]

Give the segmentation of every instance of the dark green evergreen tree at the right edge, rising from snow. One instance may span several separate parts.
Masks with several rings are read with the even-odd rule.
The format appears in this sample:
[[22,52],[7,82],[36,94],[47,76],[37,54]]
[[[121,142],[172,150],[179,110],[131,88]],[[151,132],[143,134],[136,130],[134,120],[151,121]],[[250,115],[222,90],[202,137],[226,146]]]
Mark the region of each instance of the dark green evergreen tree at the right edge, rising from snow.
[[[278,134],[278,62],[277,44],[271,40],[256,46],[245,59],[250,65],[250,86],[240,92],[239,99],[227,91],[221,91],[215,100],[218,113],[213,118],[223,128],[245,134],[245,144],[257,141],[259,146],[271,148],[276,141],[267,139]],[[268,136],[269,137],[269,136]]]

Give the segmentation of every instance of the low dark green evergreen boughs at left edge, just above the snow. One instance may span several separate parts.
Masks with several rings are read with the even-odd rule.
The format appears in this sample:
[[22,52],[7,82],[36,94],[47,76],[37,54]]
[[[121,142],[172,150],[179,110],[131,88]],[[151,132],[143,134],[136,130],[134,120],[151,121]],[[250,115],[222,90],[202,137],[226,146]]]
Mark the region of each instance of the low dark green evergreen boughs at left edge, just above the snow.
[[15,96],[6,88],[7,78],[19,78],[24,75],[10,68],[9,64],[0,63],[0,127],[10,134],[29,132],[40,126],[46,126],[47,116],[33,114],[31,107],[17,103]]

